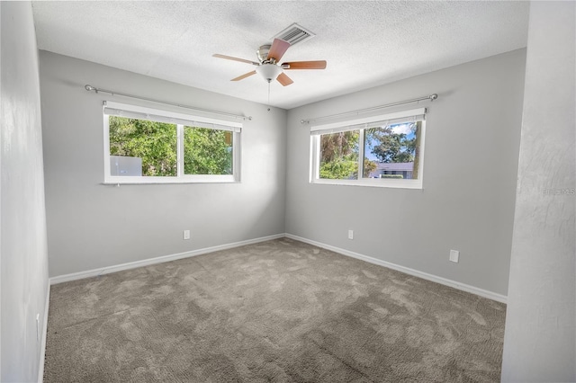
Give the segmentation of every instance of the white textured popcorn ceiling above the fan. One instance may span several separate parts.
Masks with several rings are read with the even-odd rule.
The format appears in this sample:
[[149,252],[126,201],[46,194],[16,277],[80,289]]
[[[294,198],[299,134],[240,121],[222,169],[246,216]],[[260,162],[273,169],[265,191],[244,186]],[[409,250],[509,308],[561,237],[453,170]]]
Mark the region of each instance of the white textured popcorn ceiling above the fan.
[[[527,2],[33,2],[39,49],[284,109],[526,47]],[[233,77],[293,22],[282,61],[326,59],[293,85]],[[93,84],[98,86],[97,84]]]

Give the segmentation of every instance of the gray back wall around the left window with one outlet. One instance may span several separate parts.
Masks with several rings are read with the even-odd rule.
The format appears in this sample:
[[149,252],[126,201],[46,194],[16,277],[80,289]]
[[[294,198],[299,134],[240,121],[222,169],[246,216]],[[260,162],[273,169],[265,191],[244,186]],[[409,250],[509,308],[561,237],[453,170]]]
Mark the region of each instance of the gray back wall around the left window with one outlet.
[[[163,106],[89,93],[86,84],[252,116],[242,182],[102,185],[103,100]],[[40,89],[50,276],[284,233],[284,110],[46,51]]]

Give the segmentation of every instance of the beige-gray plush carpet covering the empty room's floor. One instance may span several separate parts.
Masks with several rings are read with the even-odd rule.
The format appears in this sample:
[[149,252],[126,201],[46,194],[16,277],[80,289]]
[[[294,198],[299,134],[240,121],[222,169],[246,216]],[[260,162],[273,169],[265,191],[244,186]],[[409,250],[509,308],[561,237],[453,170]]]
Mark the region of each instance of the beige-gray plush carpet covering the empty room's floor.
[[52,286],[44,381],[499,381],[505,312],[283,238]]

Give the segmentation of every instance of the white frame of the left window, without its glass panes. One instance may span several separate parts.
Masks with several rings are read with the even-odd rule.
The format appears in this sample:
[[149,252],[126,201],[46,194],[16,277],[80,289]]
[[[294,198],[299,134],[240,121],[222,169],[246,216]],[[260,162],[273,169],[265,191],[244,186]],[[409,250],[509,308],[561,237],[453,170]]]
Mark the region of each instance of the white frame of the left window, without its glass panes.
[[[119,111],[107,113],[106,110]],[[217,120],[193,114],[159,110],[145,106],[132,105],[121,102],[103,102],[103,184],[149,184],[149,183],[239,183],[241,162],[241,132],[242,123],[238,121]],[[110,116],[122,117],[121,112],[144,114],[146,118],[140,120],[153,120],[171,123],[176,126],[176,163],[175,176],[145,176],[145,175],[112,175],[110,171]],[[150,117],[153,116],[153,117]],[[161,120],[160,120],[161,119]],[[195,124],[195,125],[194,125]],[[184,174],[184,126],[208,129],[229,130],[232,133],[232,174]]]

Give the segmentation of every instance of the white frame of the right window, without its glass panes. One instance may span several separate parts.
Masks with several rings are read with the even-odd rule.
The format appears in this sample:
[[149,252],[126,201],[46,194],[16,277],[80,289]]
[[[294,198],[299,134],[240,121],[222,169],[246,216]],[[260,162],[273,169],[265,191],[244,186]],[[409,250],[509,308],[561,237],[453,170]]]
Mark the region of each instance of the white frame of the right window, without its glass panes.
[[[329,184],[329,185],[349,185],[349,186],[370,186],[383,188],[401,188],[401,189],[423,189],[424,175],[424,148],[426,140],[426,113],[427,108],[411,109],[407,111],[396,111],[387,114],[359,118],[354,120],[342,120],[326,124],[311,125],[310,140],[310,177],[309,183]],[[364,171],[365,160],[365,129],[373,128],[371,124],[377,122],[388,122],[388,124],[397,124],[401,122],[414,122],[421,120],[422,124],[419,131],[419,168],[418,179],[374,179],[364,178],[360,173]],[[360,130],[358,137],[358,179],[356,180],[338,180],[320,178],[320,137],[324,134],[336,133],[342,131]]]

